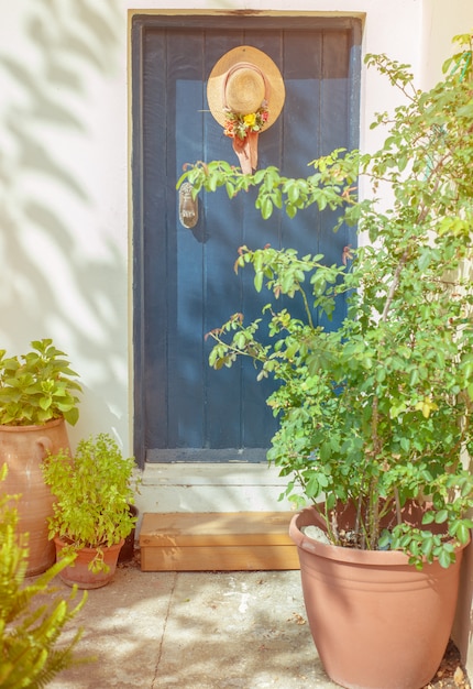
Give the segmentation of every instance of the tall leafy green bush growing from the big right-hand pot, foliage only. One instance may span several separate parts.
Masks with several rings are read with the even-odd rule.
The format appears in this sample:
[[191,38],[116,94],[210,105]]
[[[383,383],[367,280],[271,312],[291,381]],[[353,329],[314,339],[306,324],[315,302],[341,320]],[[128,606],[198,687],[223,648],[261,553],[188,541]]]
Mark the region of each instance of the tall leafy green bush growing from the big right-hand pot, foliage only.
[[[367,56],[406,97],[394,114],[377,116],[374,127],[387,134],[374,154],[336,151],[299,179],[211,162],[179,181],[195,195],[223,186],[233,197],[255,186],[264,218],[275,207],[289,217],[329,207],[337,227],[358,223],[367,238],[346,247],[338,265],[293,249],[242,247],[235,270],[252,267],[255,289],[267,289],[271,302],[261,319],[246,324],[237,314],[209,333],[210,364],[250,357],[260,379],[276,381],[267,402],[280,424],[268,459],[297,505],[322,511],[333,544],[403,550],[419,568],[433,559],[448,567],[473,524],[472,36],[458,40],[469,50],[446,63],[444,79],[428,92],[405,65]],[[362,200],[360,177],[373,190]],[[381,186],[391,198],[384,205]],[[330,317],[340,295],[349,303],[341,327],[315,326],[314,314]],[[296,300],[305,318],[293,316]],[[428,504],[420,528],[403,517],[413,500]],[[356,511],[349,535],[339,533],[340,503]]]

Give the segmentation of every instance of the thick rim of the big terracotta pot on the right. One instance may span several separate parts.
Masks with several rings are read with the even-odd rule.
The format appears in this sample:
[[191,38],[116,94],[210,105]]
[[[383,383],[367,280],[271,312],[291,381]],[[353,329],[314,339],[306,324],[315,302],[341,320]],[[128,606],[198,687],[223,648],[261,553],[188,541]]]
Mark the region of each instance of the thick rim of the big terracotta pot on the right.
[[[307,522],[307,517],[310,517],[310,522]],[[414,565],[409,565],[409,557],[405,553],[400,553],[399,550],[360,550],[358,548],[346,548],[332,544],[327,545],[302,534],[299,527],[300,521],[306,522],[305,524],[300,524],[300,526],[308,526],[309,524],[322,526],[322,522],[320,515],[314,506],[304,507],[290,520],[289,536],[296,546],[306,553],[310,553],[329,560],[338,560],[340,562],[348,562],[351,565],[380,568],[408,567],[415,571]],[[459,553],[460,550],[463,550],[469,544],[459,545],[455,548],[455,551]],[[440,565],[438,560],[435,560],[432,564],[426,562],[422,571],[426,571],[426,567],[440,567]],[[452,567],[454,567],[454,565],[452,565]]]

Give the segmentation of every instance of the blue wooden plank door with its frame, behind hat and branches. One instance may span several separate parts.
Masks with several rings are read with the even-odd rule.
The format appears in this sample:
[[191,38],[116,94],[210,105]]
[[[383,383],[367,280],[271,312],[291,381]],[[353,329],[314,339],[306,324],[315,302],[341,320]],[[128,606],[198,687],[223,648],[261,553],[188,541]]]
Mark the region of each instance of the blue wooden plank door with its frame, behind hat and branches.
[[[208,110],[207,78],[238,45],[267,53],[282,72],[286,101],[263,132],[258,166],[305,176],[334,147],[356,145],[358,20],[136,17],[133,24],[133,204],[135,452],[147,461],[264,460],[276,422],[251,362],[208,365],[205,335],[237,311],[257,316],[268,300],[252,275],[235,276],[238,248],[271,243],[340,262],[349,229],[331,231],[329,211],[309,209],[264,221],[252,193],[199,198],[199,221],[179,222],[183,165],[227,160],[231,141]],[[334,326],[345,315],[340,302]]]

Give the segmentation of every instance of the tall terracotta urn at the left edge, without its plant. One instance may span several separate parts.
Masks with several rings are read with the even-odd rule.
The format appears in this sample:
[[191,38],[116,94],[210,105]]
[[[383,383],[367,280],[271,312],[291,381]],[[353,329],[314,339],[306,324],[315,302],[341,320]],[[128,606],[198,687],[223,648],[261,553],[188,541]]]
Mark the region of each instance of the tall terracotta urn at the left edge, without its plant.
[[0,466],[7,462],[7,480],[0,490],[20,494],[15,503],[18,532],[29,534],[26,576],[46,571],[55,560],[54,543],[48,539],[47,517],[53,514],[53,495],[44,483],[41,462],[47,452],[69,449],[64,419],[44,426],[0,426]]

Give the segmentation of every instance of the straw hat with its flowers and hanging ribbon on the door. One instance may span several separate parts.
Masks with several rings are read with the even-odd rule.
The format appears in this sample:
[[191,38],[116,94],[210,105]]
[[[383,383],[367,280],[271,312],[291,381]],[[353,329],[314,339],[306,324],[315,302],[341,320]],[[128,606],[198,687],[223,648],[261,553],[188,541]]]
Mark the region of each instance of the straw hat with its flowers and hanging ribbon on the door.
[[243,173],[257,166],[257,141],[284,105],[283,77],[262,51],[242,45],[215,65],[207,85],[210,111],[233,141]]

